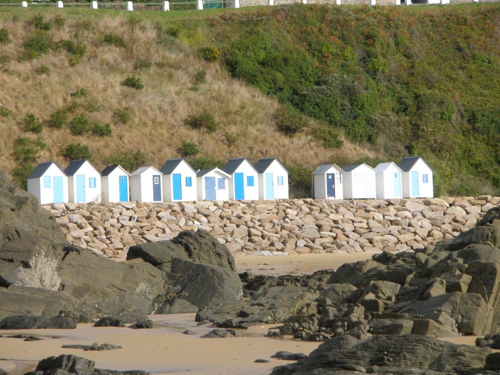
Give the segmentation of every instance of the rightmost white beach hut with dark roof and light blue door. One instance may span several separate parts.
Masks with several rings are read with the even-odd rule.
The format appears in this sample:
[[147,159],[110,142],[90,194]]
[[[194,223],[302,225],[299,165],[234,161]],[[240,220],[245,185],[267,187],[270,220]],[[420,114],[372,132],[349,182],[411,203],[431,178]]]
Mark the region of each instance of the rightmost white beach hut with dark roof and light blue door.
[[432,168],[422,157],[404,157],[397,166],[402,170],[403,198],[431,198],[434,196]]

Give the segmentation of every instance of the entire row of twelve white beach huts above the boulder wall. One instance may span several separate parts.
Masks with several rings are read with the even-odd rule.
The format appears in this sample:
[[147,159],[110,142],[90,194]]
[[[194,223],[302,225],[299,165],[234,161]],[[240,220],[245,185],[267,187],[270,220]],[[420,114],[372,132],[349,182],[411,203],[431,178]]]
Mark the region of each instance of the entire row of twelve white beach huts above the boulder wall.
[[[252,165],[246,158],[221,168],[195,171],[183,159],[167,160],[158,170],[144,166],[128,173],[120,165],[99,171],[89,160],[73,160],[66,169],[39,163],[27,177],[27,190],[40,204],[58,202],[169,202],[194,200],[288,199],[288,171],[275,157]],[[389,199],[432,197],[432,169],[420,157],[378,164],[323,164],[312,172],[316,199]]]

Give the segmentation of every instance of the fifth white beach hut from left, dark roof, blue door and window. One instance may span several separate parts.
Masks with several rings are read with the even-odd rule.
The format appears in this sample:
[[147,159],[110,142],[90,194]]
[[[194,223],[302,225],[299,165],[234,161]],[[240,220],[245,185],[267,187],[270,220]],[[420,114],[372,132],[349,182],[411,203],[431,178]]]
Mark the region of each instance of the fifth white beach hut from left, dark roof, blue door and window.
[[163,201],[196,200],[196,171],[183,158],[167,160],[159,169],[163,175]]

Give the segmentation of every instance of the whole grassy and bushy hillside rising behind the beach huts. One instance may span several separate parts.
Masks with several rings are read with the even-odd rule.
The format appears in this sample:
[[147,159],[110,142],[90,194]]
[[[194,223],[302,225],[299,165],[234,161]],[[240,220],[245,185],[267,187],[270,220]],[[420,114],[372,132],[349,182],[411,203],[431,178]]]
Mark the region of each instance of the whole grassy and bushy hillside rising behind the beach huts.
[[[33,9],[34,8],[34,9]],[[421,155],[436,195],[500,193],[500,5],[3,7],[0,169]]]

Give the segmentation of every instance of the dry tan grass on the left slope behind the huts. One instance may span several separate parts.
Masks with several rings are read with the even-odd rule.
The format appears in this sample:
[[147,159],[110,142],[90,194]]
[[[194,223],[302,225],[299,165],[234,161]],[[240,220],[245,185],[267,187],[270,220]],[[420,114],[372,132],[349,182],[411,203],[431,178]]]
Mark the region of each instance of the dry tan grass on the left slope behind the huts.
[[[0,70],[0,104],[12,110],[9,117],[0,117],[0,168],[9,176],[15,166],[11,156],[13,141],[18,135],[26,135],[21,130],[26,113],[34,113],[47,121],[52,112],[71,100],[87,102],[87,105],[86,109],[83,105],[71,113],[70,119],[84,113],[90,121],[111,123],[113,136],[75,136],[68,128],[45,126],[40,136],[47,148],[41,151],[39,161],[54,160],[64,168],[69,160],[60,155],[60,150],[74,142],[89,146],[98,168],[106,166],[107,157],[120,150],[142,151],[150,164],[160,167],[165,160],[180,156],[177,149],[183,140],[197,143],[202,155],[218,159],[245,156],[256,161],[275,156],[285,163],[300,162],[308,167],[335,162],[335,157],[353,161],[375,154],[364,145],[347,141],[341,149],[333,151],[322,148],[306,134],[283,135],[273,121],[273,112],[278,106],[276,100],[230,78],[217,62],[198,59],[179,41],[172,39],[169,45],[158,44],[156,30],[145,18],[133,25],[123,16],[110,13],[86,20],[90,27],[85,29],[81,17],[61,9],[46,10],[46,19],[52,19],[56,12],[67,21],[60,30],[49,31],[53,39],[75,40],[74,35],[78,33],[86,45],[85,55],[75,66],[69,65],[66,52],[53,51],[18,63],[23,39],[34,33],[27,19],[35,13],[27,9],[22,13],[26,18],[21,20],[0,19],[0,27],[6,27],[13,40],[1,46],[1,53],[8,54],[11,62]],[[127,47],[107,45],[102,37],[105,33],[124,36]],[[150,59],[152,67],[134,70],[137,58]],[[40,65],[50,68],[49,76],[34,72]],[[197,90],[190,90],[193,75],[202,69],[206,71],[205,82],[198,84]],[[140,76],[143,89],[120,85],[131,74]],[[71,98],[70,93],[80,87],[88,91],[88,96]],[[98,104],[99,108],[89,111],[88,103]],[[116,124],[113,112],[123,107],[129,107],[132,120]],[[215,133],[207,134],[183,124],[188,114],[202,109],[209,110],[219,123]],[[228,144],[224,133],[235,135],[236,140]]]

